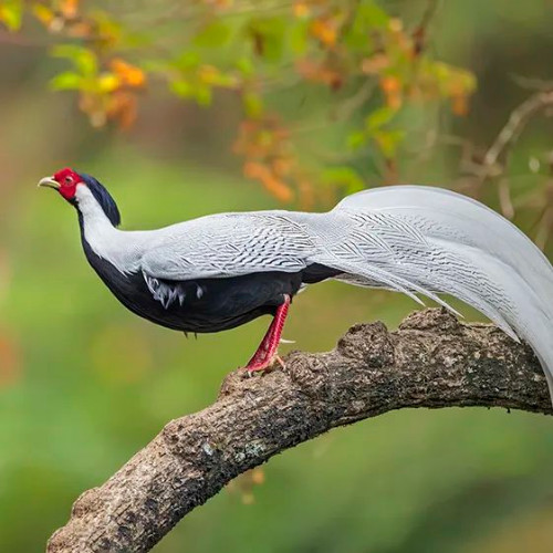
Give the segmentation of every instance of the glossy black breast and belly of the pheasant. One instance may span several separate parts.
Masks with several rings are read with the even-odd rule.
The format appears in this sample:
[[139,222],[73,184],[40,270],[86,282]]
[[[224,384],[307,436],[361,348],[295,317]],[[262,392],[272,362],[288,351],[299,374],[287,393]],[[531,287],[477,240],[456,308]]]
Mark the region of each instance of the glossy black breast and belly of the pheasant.
[[272,315],[284,294],[293,298],[302,282],[319,282],[336,274],[323,265],[311,265],[296,273],[271,271],[226,279],[147,282],[142,272],[121,273],[94,253],[84,239],[83,247],[91,265],[127,309],[156,324],[185,332],[219,332]]

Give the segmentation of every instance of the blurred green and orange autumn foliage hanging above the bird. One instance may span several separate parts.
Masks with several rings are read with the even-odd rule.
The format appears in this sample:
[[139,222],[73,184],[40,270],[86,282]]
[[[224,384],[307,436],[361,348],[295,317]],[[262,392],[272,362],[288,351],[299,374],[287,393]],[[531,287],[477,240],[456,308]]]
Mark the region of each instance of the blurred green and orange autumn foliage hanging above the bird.
[[[23,4],[0,6],[10,21],[4,22],[18,28]],[[274,90],[283,80],[330,92],[331,106],[355,104],[344,122],[336,122],[346,127],[342,150],[372,148],[388,169],[397,165],[408,136],[396,123],[405,106],[424,109],[450,102],[453,113],[465,115],[476,86],[470,72],[436,60],[425,48],[426,29],[409,27],[373,0],[282,6],[263,0],[254,10],[239,1],[198,0],[194,18],[175,6],[163,35],[156,25],[140,29],[124,10],[98,11],[79,0],[44,1],[28,9],[59,42],[52,55],[73,65],[52,79],[52,88],[77,91],[79,105],[94,126],[129,126],[149,82],[160,80],[169,93],[206,107],[216,94],[231,91],[241,98],[242,125],[259,128],[240,132],[237,139],[244,174],[281,200],[295,197],[305,206],[319,195],[319,184],[327,186],[327,174],[295,147],[294,122],[274,106]],[[145,61],[129,60],[135,58]],[[359,83],[372,83],[375,93],[358,101]],[[369,113],[356,128],[352,115],[363,111]],[[261,152],[263,134],[273,136]]]

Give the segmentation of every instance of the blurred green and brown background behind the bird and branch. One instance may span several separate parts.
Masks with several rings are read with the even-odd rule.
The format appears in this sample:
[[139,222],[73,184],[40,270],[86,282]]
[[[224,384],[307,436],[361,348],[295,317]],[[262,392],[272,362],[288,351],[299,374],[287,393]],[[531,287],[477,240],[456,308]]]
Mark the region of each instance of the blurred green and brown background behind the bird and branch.
[[[0,20],[9,3],[0,1]],[[270,177],[267,164],[274,153],[240,152],[251,148],[244,147],[248,125],[265,121],[253,93],[244,116],[239,95],[226,90],[231,85],[223,83],[207,97],[186,88],[189,83],[167,65],[160,73],[173,79],[173,92],[149,73],[147,86],[142,73],[136,86],[131,82],[136,67],[154,71],[138,50],[146,44],[153,51],[140,34],[155,28],[148,29],[149,22],[167,41],[159,39],[160,49],[185,48],[171,38],[186,34],[197,12],[175,15],[178,2],[97,3],[112,14],[117,9],[115,15],[137,36],[134,50],[128,48],[131,61],[123,56],[133,65],[123,67],[128,104],[116,116],[113,106],[103,112],[94,104],[94,91],[71,76],[49,86],[67,70],[67,59],[77,56],[48,53],[61,42],[59,21],[52,19],[59,12],[39,9],[42,19],[25,14],[21,29],[11,20],[11,29],[0,30],[0,550],[11,553],[42,551],[81,492],[104,482],[168,420],[213,401],[223,376],[249,359],[268,324],[258,320],[186,340],[131,314],[87,265],[73,210],[38,190],[39,178],[65,166],[96,176],[118,201],[125,229],[227,210],[326,209],[348,191],[393,179],[441,185],[513,217],[550,252],[547,111],[528,117],[499,167],[486,153],[521,103],[549,91],[551,2],[378,2],[392,18],[382,23],[387,29],[424,29],[424,55],[467,72],[453,92],[430,95],[421,105],[397,105],[397,83],[384,81],[375,56],[368,58],[373,65],[367,62],[365,76],[377,83],[376,92],[367,88],[352,109],[359,81],[342,86],[338,72],[321,92],[309,79],[291,79],[289,62],[276,56],[265,72],[276,86],[263,93],[263,109],[279,113],[283,134],[292,136],[285,152],[295,169]],[[322,3],[260,2],[236,18],[267,9],[271,17],[301,20]],[[281,13],[292,4],[292,14]],[[56,8],[66,11],[66,29],[69,10],[77,8],[76,2]],[[9,20],[11,12],[3,13]],[[262,36],[274,35],[271,24]],[[86,45],[75,29],[63,40]],[[340,61],[340,36],[324,28],[317,32],[321,59]],[[271,43],[263,44],[258,48],[267,52]],[[228,65],[234,54],[218,48],[210,55]],[[185,85],[175,84],[179,80]],[[405,97],[408,85],[399,85]],[[114,91],[117,86],[106,84],[98,95],[113,100]],[[335,116],[344,105],[352,112],[345,122]],[[368,119],[378,109],[382,121]],[[392,118],[388,135],[359,135],[358,128],[374,132]],[[397,148],[390,145],[396,138]],[[344,146],[355,139],[361,148]],[[491,167],[483,176],[482,164]],[[316,171],[323,169],[320,178]],[[414,309],[414,302],[392,293],[314,286],[294,302],[284,337],[296,344],[283,349],[330,349],[353,323],[382,320],[395,327]],[[401,410],[272,459],[187,515],[155,551],[549,553],[550,463],[553,427],[546,417],[479,408]]]

